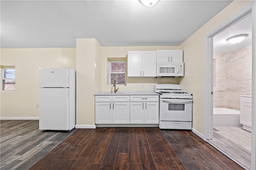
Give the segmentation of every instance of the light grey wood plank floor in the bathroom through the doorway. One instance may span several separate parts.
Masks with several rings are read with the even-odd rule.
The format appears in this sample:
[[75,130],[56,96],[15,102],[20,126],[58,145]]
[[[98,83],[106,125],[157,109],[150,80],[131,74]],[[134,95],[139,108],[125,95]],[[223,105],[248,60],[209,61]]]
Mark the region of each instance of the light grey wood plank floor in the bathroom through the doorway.
[[241,127],[214,127],[209,141],[232,156],[246,168],[251,168],[251,133]]

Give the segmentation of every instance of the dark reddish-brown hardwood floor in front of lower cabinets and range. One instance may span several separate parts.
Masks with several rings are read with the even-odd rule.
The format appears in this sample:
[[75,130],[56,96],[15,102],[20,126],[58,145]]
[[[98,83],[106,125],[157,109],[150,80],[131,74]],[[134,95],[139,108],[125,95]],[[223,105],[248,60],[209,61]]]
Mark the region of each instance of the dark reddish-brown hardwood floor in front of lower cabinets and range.
[[[22,145],[19,147],[22,148]],[[41,149],[44,147],[41,146]],[[20,152],[22,150],[24,149],[20,149]],[[27,169],[22,166],[16,168]],[[158,127],[101,127],[76,129],[38,162],[31,162],[30,169],[240,170],[243,168],[192,131],[160,130]]]

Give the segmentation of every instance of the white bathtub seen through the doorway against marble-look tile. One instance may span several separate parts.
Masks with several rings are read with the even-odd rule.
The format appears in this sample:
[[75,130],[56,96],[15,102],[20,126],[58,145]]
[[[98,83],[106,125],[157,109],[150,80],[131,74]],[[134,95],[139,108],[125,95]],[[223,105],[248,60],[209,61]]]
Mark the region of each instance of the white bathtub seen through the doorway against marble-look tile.
[[228,108],[213,108],[213,126],[240,127],[240,111]]

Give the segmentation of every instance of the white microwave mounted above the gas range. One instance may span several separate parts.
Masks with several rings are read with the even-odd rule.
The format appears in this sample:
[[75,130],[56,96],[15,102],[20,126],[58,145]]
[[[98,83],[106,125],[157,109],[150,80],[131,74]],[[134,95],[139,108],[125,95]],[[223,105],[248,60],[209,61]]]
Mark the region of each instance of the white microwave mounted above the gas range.
[[184,63],[156,63],[156,77],[180,77],[184,76]]

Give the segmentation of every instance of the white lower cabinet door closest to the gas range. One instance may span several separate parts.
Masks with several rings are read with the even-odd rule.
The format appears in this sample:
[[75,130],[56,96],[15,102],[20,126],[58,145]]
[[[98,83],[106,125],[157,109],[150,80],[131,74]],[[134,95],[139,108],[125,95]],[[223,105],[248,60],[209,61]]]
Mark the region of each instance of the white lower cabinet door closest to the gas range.
[[159,123],[159,102],[145,102],[145,123]]

